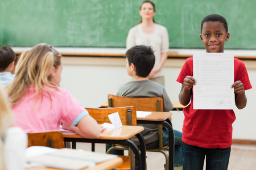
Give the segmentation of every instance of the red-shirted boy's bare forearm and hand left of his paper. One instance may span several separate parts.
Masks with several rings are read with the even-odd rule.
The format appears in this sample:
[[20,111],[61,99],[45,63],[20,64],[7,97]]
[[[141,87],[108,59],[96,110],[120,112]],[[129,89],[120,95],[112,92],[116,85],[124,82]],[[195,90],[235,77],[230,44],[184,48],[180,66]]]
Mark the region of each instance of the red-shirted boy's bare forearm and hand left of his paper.
[[184,78],[184,82],[181,86],[180,94],[179,94],[179,101],[182,105],[188,105],[192,95],[192,88],[196,85],[196,80],[192,77],[187,75]]

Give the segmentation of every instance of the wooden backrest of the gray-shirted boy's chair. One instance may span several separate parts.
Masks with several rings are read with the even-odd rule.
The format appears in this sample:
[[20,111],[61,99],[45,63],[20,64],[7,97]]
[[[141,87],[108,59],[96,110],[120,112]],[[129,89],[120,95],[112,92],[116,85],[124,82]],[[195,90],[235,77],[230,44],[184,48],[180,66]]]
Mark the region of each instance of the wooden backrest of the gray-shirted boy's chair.
[[109,107],[125,107],[133,105],[137,111],[163,111],[162,97],[122,97],[115,95],[108,95]]

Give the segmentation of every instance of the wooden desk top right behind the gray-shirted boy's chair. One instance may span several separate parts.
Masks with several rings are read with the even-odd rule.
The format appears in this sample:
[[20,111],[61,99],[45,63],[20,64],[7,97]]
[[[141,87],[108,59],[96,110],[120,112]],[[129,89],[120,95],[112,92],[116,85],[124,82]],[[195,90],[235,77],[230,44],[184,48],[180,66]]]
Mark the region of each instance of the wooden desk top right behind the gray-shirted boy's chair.
[[164,121],[171,116],[171,112],[151,112],[151,114],[146,117],[137,117],[137,120]]

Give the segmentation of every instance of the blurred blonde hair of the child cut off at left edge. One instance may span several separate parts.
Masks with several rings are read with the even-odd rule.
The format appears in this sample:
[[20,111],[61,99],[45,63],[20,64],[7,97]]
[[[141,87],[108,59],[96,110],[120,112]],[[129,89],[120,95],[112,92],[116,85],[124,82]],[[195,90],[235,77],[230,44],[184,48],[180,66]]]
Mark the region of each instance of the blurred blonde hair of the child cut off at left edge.
[[10,107],[7,103],[7,97],[2,91],[0,84],[0,170],[5,169],[5,163],[3,158],[3,140],[5,138],[5,131],[12,124],[12,117],[10,113]]

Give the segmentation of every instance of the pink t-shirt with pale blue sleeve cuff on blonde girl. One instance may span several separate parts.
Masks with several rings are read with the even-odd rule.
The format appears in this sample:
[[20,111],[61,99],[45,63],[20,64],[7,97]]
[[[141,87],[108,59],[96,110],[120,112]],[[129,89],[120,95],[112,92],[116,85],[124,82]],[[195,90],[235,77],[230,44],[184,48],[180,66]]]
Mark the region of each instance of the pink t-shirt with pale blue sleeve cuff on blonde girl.
[[82,117],[89,114],[68,90],[60,87],[44,88],[51,97],[43,91],[43,101],[39,95],[35,102],[35,88],[31,86],[20,102],[13,106],[15,126],[26,132],[59,130],[61,120],[76,126]]

